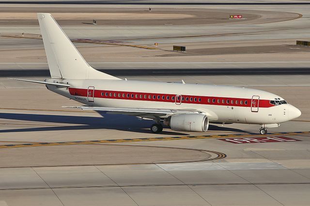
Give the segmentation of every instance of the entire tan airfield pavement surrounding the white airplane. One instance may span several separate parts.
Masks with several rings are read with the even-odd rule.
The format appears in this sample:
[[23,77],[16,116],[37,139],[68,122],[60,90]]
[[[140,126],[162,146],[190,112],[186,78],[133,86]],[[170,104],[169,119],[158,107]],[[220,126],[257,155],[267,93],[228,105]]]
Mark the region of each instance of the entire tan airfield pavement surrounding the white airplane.
[[[295,45],[310,38],[307,6],[171,0],[150,13],[148,5],[126,2],[133,5],[0,8],[0,206],[309,205],[310,50]],[[7,79],[48,78],[33,17],[39,11],[55,13],[71,39],[100,40],[74,43],[96,69],[129,80],[258,88],[302,116],[268,135],[246,124],[152,134],[150,120],[62,108],[80,104]],[[232,12],[247,19],[230,20]],[[97,25],[85,24],[93,16]],[[187,52],[171,51],[175,44]]]

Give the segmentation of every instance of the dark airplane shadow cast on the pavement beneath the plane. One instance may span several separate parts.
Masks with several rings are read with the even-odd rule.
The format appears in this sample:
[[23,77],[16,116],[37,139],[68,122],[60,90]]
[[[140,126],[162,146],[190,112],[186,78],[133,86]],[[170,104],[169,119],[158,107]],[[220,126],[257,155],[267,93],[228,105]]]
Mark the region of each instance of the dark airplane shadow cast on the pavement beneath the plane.
[[[23,121],[37,121],[48,123],[65,123],[78,124],[68,126],[48,126],[48,127],[32,127],[22,129],[0,130],[4,132],[38,132],[38,131],[66,131],[66,130],[93,130],[93,129],[112,129],[119,131],[130,131],[139,133],[151,133],[149,127],[154,124],[152,120],[141,120],[140,118],[126,115],[111,115],[99,113],[102,117],[80,117],[80,116],[63,116],[63,115],[39,115],[39,114],[18,114],[18,113],[0,113],[2,119],[13,119]],[[164,126],[164,128],[168,128]],[[209,125],[212,131],[227,132],[246,132],[239,129],[219,127]],[[160,134],[166,135],[189,135],[183,132],[163,131]]]

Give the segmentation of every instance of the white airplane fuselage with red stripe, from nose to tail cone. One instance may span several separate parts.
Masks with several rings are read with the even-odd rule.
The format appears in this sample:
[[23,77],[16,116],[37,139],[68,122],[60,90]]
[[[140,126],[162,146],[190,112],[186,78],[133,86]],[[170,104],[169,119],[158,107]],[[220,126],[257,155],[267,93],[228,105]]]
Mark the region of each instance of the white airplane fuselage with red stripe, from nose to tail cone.
[[211,122],[278,124],[301,114],[278,95],[251,88],[130,80],[46,81],[71,85],[69,88],[48,85],[47,88],[89,106],[196,109]]

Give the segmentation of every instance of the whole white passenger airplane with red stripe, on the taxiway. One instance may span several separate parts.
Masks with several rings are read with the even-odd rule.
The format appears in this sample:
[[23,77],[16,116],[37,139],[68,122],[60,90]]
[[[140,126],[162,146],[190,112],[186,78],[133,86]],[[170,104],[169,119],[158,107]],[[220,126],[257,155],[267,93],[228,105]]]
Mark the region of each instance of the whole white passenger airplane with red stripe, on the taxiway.
[[68,106],[152,119],[151,132],[206,132],[209,123],[243,123],[267,128],[298,118],[299,109],[270,92],[232,86],[131,81],[93,69],[61,27],[47,13],[38,13],[51,78],[47,89],[84,105]]

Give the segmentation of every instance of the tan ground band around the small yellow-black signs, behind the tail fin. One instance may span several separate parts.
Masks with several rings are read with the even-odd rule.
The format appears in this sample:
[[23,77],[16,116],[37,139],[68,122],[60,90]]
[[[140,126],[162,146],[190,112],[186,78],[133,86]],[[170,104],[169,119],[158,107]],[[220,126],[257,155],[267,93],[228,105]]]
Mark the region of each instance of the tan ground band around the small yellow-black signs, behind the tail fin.
[[[41,43],[42,40],[36,40]],[[183,44],[186,53],[173,52],[173,44],[160,44],[157,50],[128,46],[76,44],[88,62],[176,62],[176,61],[302,61],[307,59],[310,47],[295,46],[294,40],[270,43],[269,40],[248,44],[235,43]],[[81,46],[80,46],[81,45]],[[95,47],[93,47],[95,45]],[[242,46],[241,46],[242,45]],[[150,45],[153,47],[153,45]],[[272,55],[270,55],[272,54]],[[45,50],[0,50],[0,62],[47,62]]]

